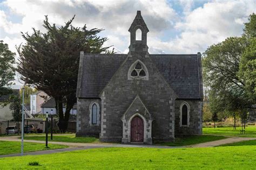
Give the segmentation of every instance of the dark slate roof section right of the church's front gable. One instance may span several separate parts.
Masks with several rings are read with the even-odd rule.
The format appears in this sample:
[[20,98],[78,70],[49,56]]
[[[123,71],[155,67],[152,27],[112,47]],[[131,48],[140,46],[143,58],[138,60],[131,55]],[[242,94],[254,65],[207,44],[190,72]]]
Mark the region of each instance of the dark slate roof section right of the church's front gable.
[[[197,54],[152,54],[151,59],[178,98],[203,98]],[[203,84],[203,82],[201,82]]]

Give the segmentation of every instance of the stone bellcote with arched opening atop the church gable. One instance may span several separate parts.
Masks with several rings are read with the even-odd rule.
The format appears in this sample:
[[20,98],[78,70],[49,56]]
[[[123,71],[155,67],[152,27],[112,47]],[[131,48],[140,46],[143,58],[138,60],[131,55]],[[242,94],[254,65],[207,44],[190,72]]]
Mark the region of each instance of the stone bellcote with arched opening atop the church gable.
[[147,47],[147,32],[149,32],[149,29],[147,29],[147,25],[140,11],[137,11],[137,15],[130,26],[129,32],[131,34],[131,42],[128,55],[130,57],[132,57],[132,55],[149,56],[149,47]]

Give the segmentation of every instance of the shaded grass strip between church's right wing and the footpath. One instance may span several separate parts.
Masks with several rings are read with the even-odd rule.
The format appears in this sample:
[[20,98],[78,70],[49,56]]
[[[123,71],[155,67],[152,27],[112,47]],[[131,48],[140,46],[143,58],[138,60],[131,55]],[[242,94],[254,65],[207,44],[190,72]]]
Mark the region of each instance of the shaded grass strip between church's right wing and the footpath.
[[200,143],[205,143],[207,141],[214,141],[214,140],[220,140],[225,138],[227,137],[212,136],[212,135],[189,136],[185,138],[175,138],[174,142],[160,143],[160,145],[185,146],[185,145],[200,144]]

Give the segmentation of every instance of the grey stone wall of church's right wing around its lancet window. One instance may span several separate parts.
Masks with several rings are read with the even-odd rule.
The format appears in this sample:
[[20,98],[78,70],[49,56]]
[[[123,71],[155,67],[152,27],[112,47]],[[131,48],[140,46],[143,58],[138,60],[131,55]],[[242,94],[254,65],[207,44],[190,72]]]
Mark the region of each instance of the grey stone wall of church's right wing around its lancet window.
[[[189,125],[180,125],[180,105],[189,104]],[[203,102],[201,100],[176,100],[175,101],[175,135],[202,134]]]

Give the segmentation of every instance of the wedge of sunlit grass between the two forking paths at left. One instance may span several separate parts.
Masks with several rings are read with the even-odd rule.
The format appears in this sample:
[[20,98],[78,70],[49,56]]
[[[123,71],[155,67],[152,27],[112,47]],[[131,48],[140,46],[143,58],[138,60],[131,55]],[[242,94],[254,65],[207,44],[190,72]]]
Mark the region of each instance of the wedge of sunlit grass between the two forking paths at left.
[[[45,147],[45,144],[37,143],[24,143],[24,152],[31,151],[42,151],[42,150],[52,150],[56,148],[65,148],[65,145],[48,144],[49,148]],[[21,153],[21,142],[19,141],[0,141],[0,155]],[[1,169],[1,166],[0,166]]]

